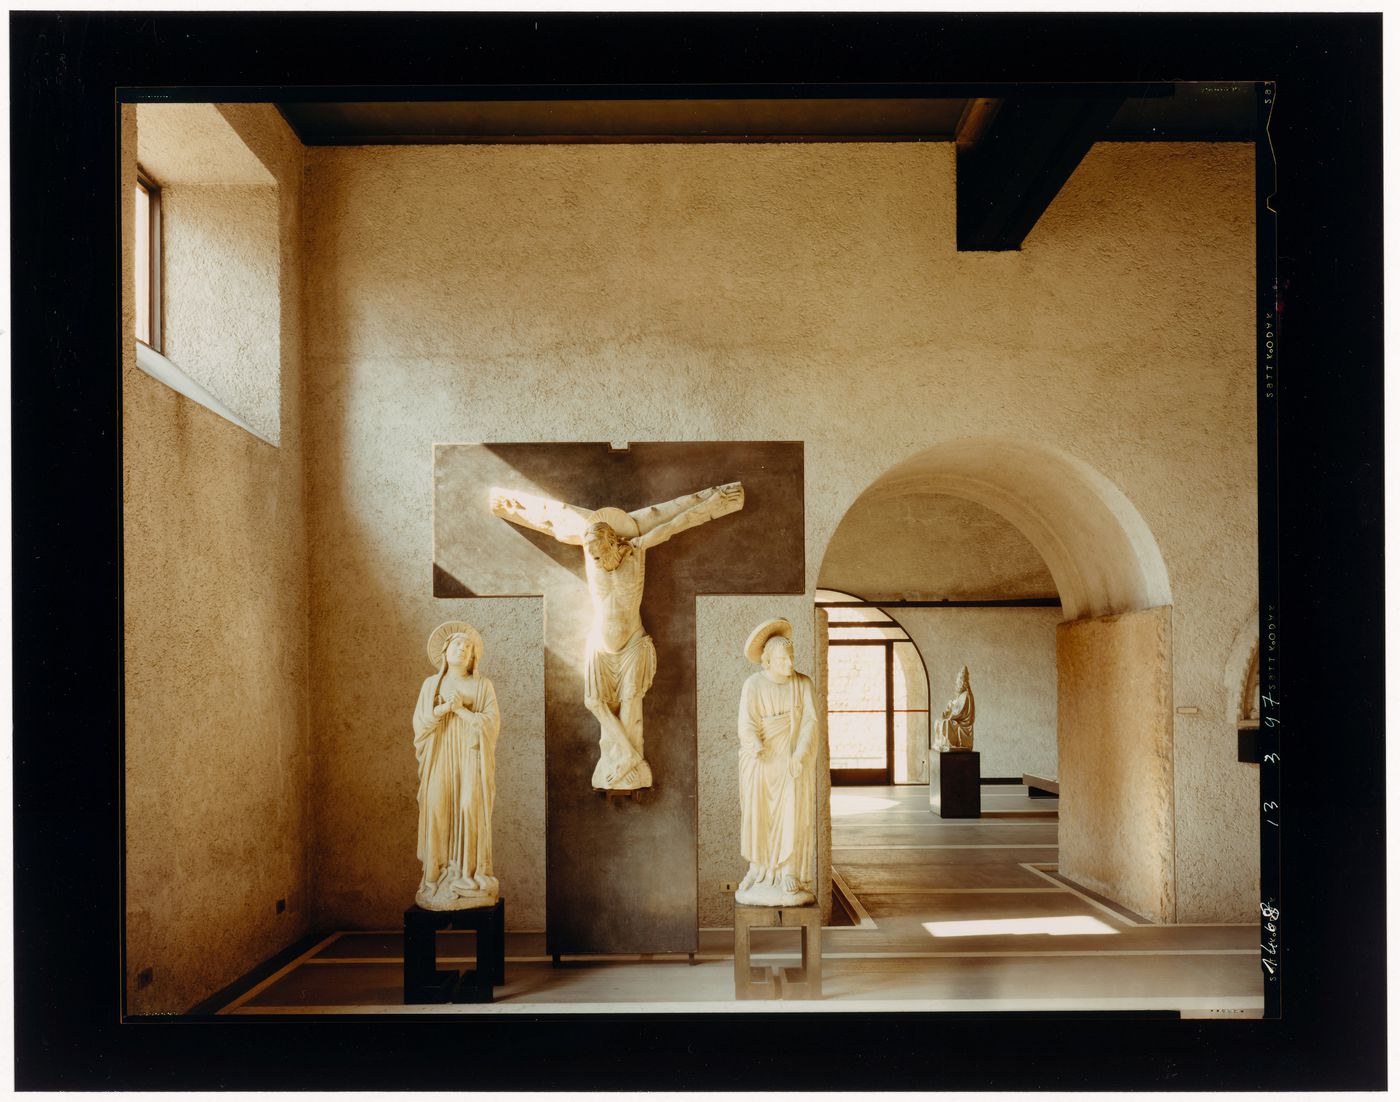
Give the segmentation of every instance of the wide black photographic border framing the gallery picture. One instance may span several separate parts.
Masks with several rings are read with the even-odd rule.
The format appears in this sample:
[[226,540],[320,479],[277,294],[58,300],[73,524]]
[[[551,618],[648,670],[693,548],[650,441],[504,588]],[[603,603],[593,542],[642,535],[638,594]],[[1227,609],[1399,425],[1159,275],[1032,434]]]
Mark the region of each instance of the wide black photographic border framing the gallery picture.
[[[10,32],[20,1089],[1385,1087],[1379,15],[13,13]],[[1218,78],[1277,90],[1277,1019],[122,1021],[118,88]]]

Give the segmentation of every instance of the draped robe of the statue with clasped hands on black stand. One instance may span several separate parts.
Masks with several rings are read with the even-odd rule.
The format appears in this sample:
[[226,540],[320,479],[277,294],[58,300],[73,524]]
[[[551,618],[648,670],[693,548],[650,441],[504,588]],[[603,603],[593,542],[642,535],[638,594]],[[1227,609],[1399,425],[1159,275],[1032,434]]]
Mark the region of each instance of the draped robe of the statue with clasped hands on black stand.
[[[413,752],[419,760],[419,860],[423,884],[419,903],[430,909],[470,905],[475,896],[494,902],[491,870],[491,808],[496,804],[496,739],[501,718],[496,688],[473,676],[476,692],[466,718],[455,711],[434,716],[440,675],[419,692],[413,710]],[[435,893],[424,896],[451,874]],[[472,878],[476,885],[468,882]],[[484,889],[483,886],[484,885]],[[455,899],[454,899],[455,896]],[[435,899],[437,902],[433,902]]]

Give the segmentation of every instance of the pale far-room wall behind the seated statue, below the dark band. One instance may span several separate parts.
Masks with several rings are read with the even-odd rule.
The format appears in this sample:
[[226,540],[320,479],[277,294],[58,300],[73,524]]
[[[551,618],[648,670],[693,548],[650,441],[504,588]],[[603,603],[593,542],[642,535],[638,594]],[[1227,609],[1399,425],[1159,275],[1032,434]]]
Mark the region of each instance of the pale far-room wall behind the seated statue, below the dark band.
[[967,667],[984,777],[1056,776],[1057,608],[899,609],[928,671],[930,718]]

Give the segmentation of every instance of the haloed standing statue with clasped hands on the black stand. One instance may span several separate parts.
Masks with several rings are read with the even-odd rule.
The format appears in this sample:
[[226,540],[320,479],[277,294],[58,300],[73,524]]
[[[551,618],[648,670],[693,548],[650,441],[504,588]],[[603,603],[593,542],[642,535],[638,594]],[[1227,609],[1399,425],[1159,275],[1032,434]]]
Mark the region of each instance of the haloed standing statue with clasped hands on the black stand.
[[413,710],[423,863],[416,902],[426,910],[489,907],[500,895],[491,808],[501,717],[496,688],[477,672],[480,657],[482,636],[469,623],[448,620],[428,637],[437,672]]

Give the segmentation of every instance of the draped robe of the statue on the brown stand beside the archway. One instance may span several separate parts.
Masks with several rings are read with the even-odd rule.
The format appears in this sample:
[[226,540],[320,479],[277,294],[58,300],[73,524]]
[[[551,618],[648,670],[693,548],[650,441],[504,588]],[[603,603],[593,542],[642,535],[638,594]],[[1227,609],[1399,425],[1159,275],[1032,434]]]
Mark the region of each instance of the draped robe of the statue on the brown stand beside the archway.
[[[811,892],[816,877],[816,706],[812,679],[792,672],[774,682],[762,671],[739,695],[739,853],[763,871],[766,886],[781,889],[791,875]],[[797,777],[788,763],[802,763]],[[745,902],[741,892],[739,902]],[[759,900],[755,900],[759,902]],[[809,899],[806,902],[811,902]]]

